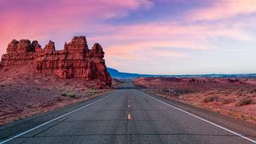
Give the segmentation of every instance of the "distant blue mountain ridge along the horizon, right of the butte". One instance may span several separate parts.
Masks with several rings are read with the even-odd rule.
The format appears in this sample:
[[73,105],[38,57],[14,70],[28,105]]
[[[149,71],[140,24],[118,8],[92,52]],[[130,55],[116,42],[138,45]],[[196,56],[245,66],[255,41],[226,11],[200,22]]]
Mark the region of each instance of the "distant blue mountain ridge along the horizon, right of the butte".
[[214,77],[214,78],[246,78],[256,79],[256,74],[207,74],[207,75],[145,75],[145,74],[133,74],[122,73],[113,68],[107,68],[108,73],[115,79],[131,80],[136,77]]

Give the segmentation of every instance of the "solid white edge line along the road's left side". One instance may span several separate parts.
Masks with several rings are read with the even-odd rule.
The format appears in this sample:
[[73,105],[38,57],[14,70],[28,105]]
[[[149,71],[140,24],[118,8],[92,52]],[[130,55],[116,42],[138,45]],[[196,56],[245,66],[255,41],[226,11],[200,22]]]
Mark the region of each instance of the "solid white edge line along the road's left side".
[[[119,92],[119,91],[117,91],[117,92]],[[117,93],[117,92],[114,92],[114,93],[112,93],[112,94],[109,94],[109,95],[107,95],[107,96],[104,97],[104,98],[107,98],[107,97],[109,97],[110,95],[113,95],[113,94],[115,94],[115,93]],[[11,137],[11,138],[5,140],[5,141],[2,141],[2,142],[0,142],[0,144],[5,143],[5,142],[8,142],[8,141],[10,141],[10,140],[12,140],[12,139],[14,139],[14,138],[16,138],[16,137],[19,137],[19,136],[21,136],[21,135],[24,135],[24,134],[26,134],[26,133],[28,133],[28,132],[34,130],[34,129],[37,129],[37,128],[39,128],[39,127],[42,127],[43,125],[48,124],[48,123],[50,123],[50,122],[53,122],[53,121],[55,121],[56,119],[59,119],[59,118],[64,117],[64,116],[67,116],[67,115],[69,115],[70,113],[73,113],[73,112],[75,112],[75,111],[78,111],[78,110],[80,110],[80,109],[83,109],[84,107],[89,106],[89,105],[92,105],[92,104],[96,103],[97,101],[100,101],[100,100],[102,100],[102,99],[104,99],[104,98],[101,98],[101,99],[99,99],[99,100],[96,100],[96,101],[94,101],[94,102],[92,102],[92,103],[90,103],[90,104],[88,104],[88,105],[82,106],[82,107],[80,107],[79,109],[76,109],[76,110],[73,110],[73,111],[71,111],[71,112],[68,112],[68,113],[66,113],[65,115],[62,115],[62,116],[59,116],[59,117],[57,117],[57,118],[51,119],[51,121],[48,121],[48,122],[43,123],[43,124],[41,124],[41,125],[38,125],[37,127],[34,127],[34,128],[32,128],[32,129],[30,129],[30,130],[27,130],[27,131],[25,131],[25,132],[23,132],[23,133],[21,133],[21,134],[15,135],[15,136],[13,136],[13,137]]]

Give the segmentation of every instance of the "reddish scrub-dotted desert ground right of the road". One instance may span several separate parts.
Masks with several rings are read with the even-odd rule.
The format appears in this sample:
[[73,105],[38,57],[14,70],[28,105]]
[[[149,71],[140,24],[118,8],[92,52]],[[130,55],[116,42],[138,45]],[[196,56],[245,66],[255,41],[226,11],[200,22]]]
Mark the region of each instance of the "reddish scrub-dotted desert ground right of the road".
[[[199,79],[200,82],[200,79],[207,80],[206,78],[195,79]],[[137,88],[145,88],[147,92],[162,97],[256,123],[255,84],[223,82],[225,80],[218,83],[220,81],[218,79],[210,79],[206,83],[193,83],[187,80],[188,78],[141,77],[133,80],[133,83]],[[254,83],[255,80],[239,81]]]

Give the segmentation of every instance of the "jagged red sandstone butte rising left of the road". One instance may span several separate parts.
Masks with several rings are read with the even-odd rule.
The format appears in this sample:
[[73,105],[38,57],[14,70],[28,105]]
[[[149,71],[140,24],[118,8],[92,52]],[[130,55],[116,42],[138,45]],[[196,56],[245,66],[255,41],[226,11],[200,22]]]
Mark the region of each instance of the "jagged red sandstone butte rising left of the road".
[[1,58],[0,68],[32,65],[36,73],[56,74],[63,79],[98,79],[111,86],[112,78],[103,57],[101,45],[95,43],[89,50],[84,36],[74,37],[70,43],[65,43],[64,50],[55,50],[55,43],[51,40],[42,49],[36,40],[31,43],[27,39],[14,39]]

